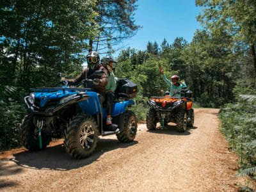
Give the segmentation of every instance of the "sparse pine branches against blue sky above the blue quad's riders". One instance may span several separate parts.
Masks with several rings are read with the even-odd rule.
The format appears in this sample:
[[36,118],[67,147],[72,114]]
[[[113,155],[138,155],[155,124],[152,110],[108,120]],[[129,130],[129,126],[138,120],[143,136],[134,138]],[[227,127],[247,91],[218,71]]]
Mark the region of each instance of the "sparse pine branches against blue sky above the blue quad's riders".
[[[114,46],[131,38],[140,29],[134,21],[138,0],[98,0],[95,6],[95,23],[98,33],[90,38],[89,51],[113,52]],[[107,49],[107,51],[104,51]]]

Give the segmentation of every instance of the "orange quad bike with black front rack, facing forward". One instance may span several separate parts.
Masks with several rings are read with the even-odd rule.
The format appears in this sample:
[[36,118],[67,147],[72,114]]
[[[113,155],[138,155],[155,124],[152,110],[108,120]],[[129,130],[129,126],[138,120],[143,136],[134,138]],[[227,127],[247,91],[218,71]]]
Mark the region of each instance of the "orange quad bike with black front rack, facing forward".
[[[181,97],[175,97],[176,94],[180,94]],[[193,127],[194,110],[191,96],[190,90],[182,90],[172,96],[150,97],[148,99],[150,109],[147,111],[147,129],[156,129],[157,122],[162,124],[162,127],[173,122],[180,132],[185,132],[187,127]]]

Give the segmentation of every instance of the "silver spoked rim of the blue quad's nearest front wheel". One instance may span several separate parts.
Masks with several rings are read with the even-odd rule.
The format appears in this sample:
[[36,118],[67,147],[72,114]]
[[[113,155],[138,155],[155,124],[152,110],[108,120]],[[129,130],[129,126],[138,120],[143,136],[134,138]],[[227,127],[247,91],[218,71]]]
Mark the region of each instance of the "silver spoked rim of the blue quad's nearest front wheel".
[[83,147],[84,149],[91,148],[94,141],[93,136],[94,136],[94,131],[92,129],[92,125],[85,124],[80,132],[79,141],[80,141],[81,147]]

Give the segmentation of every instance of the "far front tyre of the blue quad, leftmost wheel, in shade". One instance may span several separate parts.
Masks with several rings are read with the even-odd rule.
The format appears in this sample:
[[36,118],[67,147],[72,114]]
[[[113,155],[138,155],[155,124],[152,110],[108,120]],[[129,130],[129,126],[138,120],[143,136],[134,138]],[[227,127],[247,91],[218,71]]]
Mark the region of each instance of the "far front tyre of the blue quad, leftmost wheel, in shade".
[[[40,150],[38,127],[33,124],[33,116],[26,115],[21,124],[21,143],[30,151]],[[46,148],[51,137],[42,133],[42,148]]]

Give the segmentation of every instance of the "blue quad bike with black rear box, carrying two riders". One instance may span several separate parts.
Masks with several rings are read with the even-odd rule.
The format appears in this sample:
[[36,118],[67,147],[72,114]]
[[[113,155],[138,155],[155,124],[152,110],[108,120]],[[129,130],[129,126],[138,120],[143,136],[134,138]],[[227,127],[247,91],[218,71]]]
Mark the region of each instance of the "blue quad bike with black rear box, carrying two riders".
[[[102,75],[102,70],[94,76]],[[92,79],[84,79],[76,87],[67,84],[56,88],[31,89],[33,93],[24,98],[28,115],[21,125],[21,141],[28,150],[47,147],[52,138],[64,138],[67,153],[75,159],[90,156],[97,145],[98,136],[116,134],[121,142],[133,141],[137,132],[137,120],[132,111],[131,100],[138,92],[136,84],[128,79],[118,79],[116,97],[111,116],[116,131],[106,128],[106,105],[101,108],[99,94],[92,88],[78,88],[82,83],[92,87]]]

